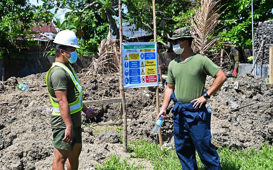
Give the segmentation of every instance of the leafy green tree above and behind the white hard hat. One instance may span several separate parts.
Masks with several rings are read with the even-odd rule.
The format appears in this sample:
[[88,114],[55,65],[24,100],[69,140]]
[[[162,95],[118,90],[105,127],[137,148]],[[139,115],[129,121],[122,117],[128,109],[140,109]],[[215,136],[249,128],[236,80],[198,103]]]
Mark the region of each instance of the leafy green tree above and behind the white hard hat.
[[119,38],[119,28],[116,23],[117,1],[115,0],[43,0],[44,4],[65,9],[65,20],[55,22],[60,30],[69,29],[76,32],[82,48],[80,55],[96,54],[101,40],[107,37],[109,26],[113,34]]

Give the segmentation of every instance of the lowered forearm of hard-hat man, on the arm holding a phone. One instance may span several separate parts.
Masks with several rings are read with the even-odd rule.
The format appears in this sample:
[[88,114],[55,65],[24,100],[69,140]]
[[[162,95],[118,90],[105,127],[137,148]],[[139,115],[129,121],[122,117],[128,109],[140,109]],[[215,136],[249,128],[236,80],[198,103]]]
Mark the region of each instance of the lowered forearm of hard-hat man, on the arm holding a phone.
[[64,120],[66,128],[73,128],[72,119],[70,116],[70,108],[67,101],[59,101],[59,109],[61,118]]

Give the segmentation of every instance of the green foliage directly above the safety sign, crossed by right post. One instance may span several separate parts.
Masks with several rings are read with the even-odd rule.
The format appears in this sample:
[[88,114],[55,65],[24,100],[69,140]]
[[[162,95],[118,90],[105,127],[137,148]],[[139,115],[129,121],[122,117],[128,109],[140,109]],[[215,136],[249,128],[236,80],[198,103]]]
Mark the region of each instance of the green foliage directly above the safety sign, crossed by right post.
[[[183,15],[188,18],[190,11],[187,8],[191,5],[189,1],[155,1],[156,17],[157,17],[157,34],[167,37],[172,34],[176,28],[180,28],[183,24],[177,24],[176,16]],[[128,13],[124,16],[131,24],[135,24],[135,30],[141,28],[149,32],[153,32],[153,8],[150,0],[125,0],[124,4],[128,9]],[[187,14],[185,14],[187,13]],[[182,20],[182,18],[181,18]]]

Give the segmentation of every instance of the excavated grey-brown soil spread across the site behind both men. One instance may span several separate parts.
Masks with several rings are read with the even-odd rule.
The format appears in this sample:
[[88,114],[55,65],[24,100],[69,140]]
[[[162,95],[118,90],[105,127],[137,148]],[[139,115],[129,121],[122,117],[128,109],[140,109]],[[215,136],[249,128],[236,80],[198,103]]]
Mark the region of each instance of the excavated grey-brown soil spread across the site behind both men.
[[[0,169],[50,169],[53,158],[52,131],[50,128],[51,103],[45,84],[46,73],[25,78],[9,78],[0,85]],[[85,77],[79,75],[84,100],[119,97],[119,74]],[[214,79],[207,78],[206,88]],[[26,83],[32,91],[20,91],[17,83]],[[160,85],[160,103],[165,84]],[[155,124],[155,92],[145,88],[126,89],[128,110],[128,140],[146,139],[158,142],[151,133]],[[240,78],[228,78],[226,83],[209,100],[212,108],[211,133],[216,147],[260,149],[263,142],[272,145],[273,138],[273,90],[251,74]],[[170,109],[172,107],[170,104]],[[251,105],[249,105],[251,104]],[[249,105],[247,107],[243,107]],[[85,118],[91,128],[82,125],[83,148],[79,169],[93,169],[111,154],[124,154],[120,134],[115,131],[122,125],[120,104],[98,107],[96,118]],[[243,107],[243,108],[240,108]],[[238,109],[239,108],[239,109]],[[169,112],[170,110],[168,110]],[[96,123],[96,124],[94,124]],[[89,124],[88,124],[89,125]],[[122,130],[120,130],[122,132]],[[164,143],[173,144],[172,115],[168,114],[162,126]],[[145,169],[153,169],[149,162],[131,159]]]

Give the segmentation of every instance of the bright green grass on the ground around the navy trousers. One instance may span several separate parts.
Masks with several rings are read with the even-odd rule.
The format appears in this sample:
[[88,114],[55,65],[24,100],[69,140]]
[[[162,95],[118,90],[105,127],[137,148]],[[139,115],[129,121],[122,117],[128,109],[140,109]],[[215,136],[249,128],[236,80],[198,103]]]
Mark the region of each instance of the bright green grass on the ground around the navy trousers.
[[[128,149],[131,150],[130,155],[132,158],[150,160],[152,165],[155,167],[155,170],[181,169],[181,165],[174,148],[170,150],[163,148],[161,150],[155,143],[137,140],[135,142],[129,142]],[[219,148],[217,152],[220,156],[221,166],[224,170],[273,169],[273,147],[267,145],[267,143],[262,145],[261,151],[257,151],[253,148],[247,151]],[[197,154],[196,158],[198,169],[204,170],[205,168]],[[110,159],[105,160],[105,163],[97,169],[112,170],[111,168],[113,167],[117,170],[132,169],[127,160],[120,161],[119,157],[113,155]],[[141,167],[138,167],[137,165],[134,165],[133,167],[133,169],[138,168],[141,169]]]

